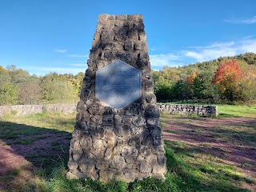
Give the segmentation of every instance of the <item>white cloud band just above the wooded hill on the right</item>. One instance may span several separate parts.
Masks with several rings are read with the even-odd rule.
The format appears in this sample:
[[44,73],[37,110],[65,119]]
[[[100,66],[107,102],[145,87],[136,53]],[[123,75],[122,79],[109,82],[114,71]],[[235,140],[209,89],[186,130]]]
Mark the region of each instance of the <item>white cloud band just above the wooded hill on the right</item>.
[[239,41],[214,42],[209,46],[189,46],[176,53],[150,55],[152,69],[162,66],[184,66],[195,62],[206,62],[219,57],[256,53],[256,38],[247,36]]

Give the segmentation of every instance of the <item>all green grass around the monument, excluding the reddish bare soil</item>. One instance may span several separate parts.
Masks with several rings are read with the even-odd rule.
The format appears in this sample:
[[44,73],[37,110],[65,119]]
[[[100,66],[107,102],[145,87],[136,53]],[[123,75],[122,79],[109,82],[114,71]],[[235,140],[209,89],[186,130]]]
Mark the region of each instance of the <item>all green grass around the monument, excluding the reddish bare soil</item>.
[[[223,109],[227,109],[223,106]],[[221,110],[224,111],[222,108]],[[253,110],[252,110],[253,111]],[[224,113],[224,112],[223,112]],[[226,113],[233,114],[234,112]],[[254,112],[250,112],[253,114]],[[163,126],[168,126],[168,121],[174,121],[172,116],[165,115]],[[190,117],[177,121],[192,124],[194,119],[204,121],[205,118]],[[250,125],[248,125],[250,126]],[[165,129],[165,128],[163,128]],[[223,138],[234,136],[234,132],[229,132],[228,127],[215,130],[214,134],[222,134]],[[64,139],[71,138],[74,130],[74,114],[35,114],[27,117],[11,118],[5,117],[0,122],[0,139],[5,142],[19,143],[21,145],[33,144],[33,142],[43,139],[40,134],[63,134]],[[234,128],[236,134],[242,140],[249,139],[248,145],[252,142],[250,134],[242,133],[238,128]],[[171,131],[170,131],[171,132]],[[178,132],[175,132],[178,134]],[[192,134],[202,134],[204,131],[193,132]],[[241,134],[242,133],[242,134]],[[19,137],[23,138],[19,142]],[[242,136],[241,136],[242,135]],[[28,137],[28,138],[26,138]],[[230,139],[230,138],[229,138]],[[8,144],[8,143],[7,143]],[[210,147],[207,142],[202,142],[201,147],[190,146],[185,142],[166,141],[167,173],[166,181],[162,182],[153,178],[145,178],[139,182],[116,182],[108,184],[92,181],[91,179],[70,180],[66,178],[66,164],[69,157],[69,144],[64,146],[62,141],[50,143],[50,149],[38,149],[40,152],[49,150],[50,154],[38,156],[34,154],[26,155],[26,159],[34,165],[34,177],[25,182],[23,186],[18,186],[21,191],[250,191],[242,189],[242,184],[256,184],[253,178],[242,174],[234,166],[226,165],[221,159],[213,154],[204,152],[201,147]],[[63,152],[62,152],[63,150]],[[58,154],[57,154],[58,151]],[[55,154],[56,153],[56,154]],[[251,166],[247,162],[244,166]],[[22,174],[22,170],[13,170],[10,175],[0,177],[1,181],[13,182],[15,177]],[[17,184],[17,183],[16,183]],[[16,185],[14,183],[14,185]],[[11,186],[13,187],[13,186]],[[7,187],[8,188],[8,187]],[[8,188],[11,191],[11,188]],[[15,188],[17,189],[17,188]]]

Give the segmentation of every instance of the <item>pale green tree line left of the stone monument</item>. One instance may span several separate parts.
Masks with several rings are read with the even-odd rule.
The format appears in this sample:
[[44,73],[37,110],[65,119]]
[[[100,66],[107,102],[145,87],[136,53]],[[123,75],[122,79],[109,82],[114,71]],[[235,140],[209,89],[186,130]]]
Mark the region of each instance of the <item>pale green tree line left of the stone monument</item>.
[[0,66],[0,105],[78,102],[84,74],[30,75],[16,66]]

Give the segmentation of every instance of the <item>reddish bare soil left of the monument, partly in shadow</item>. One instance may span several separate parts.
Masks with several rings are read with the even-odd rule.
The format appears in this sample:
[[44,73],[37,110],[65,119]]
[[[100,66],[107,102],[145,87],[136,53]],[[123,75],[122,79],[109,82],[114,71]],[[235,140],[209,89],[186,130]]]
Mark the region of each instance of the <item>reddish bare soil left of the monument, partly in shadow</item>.
[[[18,191],[34,179],[35,168],[47,166],[49,169],[51,163],[68,157],[70,139],[66,136],[66,132],[58,132],[0,139],[0,190],[16,191],[13,187],[18,187]],[[20,143],[30,139],[32,142]]]

